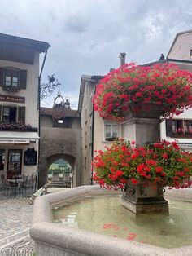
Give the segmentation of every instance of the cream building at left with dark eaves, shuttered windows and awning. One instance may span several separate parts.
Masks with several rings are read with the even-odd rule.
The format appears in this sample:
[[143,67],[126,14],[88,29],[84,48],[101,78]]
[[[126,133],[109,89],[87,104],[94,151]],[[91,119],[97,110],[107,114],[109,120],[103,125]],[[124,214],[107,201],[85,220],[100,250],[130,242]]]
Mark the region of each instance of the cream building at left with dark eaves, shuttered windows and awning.
[[0,34],[0,174],[7,179],[37,171],[39,56],[49,47]]

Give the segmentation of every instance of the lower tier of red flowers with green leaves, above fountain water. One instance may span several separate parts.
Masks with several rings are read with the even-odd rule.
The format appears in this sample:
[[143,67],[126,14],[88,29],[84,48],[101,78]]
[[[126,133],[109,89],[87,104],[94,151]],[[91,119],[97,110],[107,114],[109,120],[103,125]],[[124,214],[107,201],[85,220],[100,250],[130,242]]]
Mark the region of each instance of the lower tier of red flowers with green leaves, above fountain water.
[[135,147],[123,139],[112,144],[93,161],[94,181],[105,188],[124,188],[126,183],[153,183],[187,188],[192,175],[192,154],[177,142],[161,141]]

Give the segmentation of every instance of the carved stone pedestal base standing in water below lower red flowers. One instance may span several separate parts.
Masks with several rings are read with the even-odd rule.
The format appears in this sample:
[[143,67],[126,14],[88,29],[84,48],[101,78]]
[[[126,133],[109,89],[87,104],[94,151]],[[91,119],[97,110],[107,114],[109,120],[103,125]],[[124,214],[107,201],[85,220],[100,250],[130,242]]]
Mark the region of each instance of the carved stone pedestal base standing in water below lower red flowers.
[[168,201],[164,200],[164,188],[157,184],[128,183],[121,205],[134,214],[168,213]]

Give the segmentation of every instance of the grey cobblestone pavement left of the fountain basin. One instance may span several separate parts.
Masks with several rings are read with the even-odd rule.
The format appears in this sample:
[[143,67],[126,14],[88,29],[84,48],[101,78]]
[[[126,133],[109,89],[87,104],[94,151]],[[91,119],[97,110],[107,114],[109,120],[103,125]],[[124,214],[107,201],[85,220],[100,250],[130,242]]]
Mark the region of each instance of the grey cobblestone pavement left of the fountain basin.
[[28,197],[5,198],[0,194],[0,255],[33,255],[29,227],[33,205]]

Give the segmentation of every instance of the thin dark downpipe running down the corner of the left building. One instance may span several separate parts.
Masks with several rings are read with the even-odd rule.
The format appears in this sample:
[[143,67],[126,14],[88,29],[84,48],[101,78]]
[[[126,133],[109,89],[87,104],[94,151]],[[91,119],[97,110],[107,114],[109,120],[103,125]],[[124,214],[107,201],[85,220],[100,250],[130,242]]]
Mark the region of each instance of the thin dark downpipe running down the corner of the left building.
[[42,75],[42,71],[43,71],[43,68],[44,68],[44,65],[46,63],[46,55],[47,55],[47,49],[45,51],[45,55],[44,55],[44,58],[43,58],[43,62],[42,62],[42,65],[41,65],[41,72],[40,72],[40,75],[38,77],[38,103],[37,103],[37,109],[38,109],[38,112],[39,112],[39,121],[38,121],[38,126],[39,126],[39,129],[38,129],[38,136],[39,136],[39,143],[38,143],[38,167],[37,167],[37,185],[36,185],[36,189],[40,188],[39,187],[39,172],[40,172],[40,165],[39,165],[39,162],[40,162],[40,105],[41,105],[41,98],[40,98],[40,95],[41,95],[41,75]]

